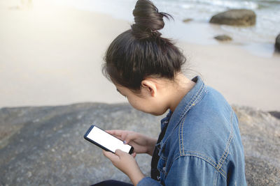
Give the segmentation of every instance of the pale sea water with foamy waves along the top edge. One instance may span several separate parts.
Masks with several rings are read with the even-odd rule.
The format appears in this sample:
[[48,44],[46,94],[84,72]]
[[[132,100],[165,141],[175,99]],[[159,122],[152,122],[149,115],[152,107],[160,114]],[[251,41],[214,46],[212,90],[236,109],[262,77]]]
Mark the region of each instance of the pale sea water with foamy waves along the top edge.
[[[113,15],[133,24],[132,10],[137,0],[56,0],[61,5],[81,10]],[[153,0],[162,12],[171,14],[174,21],[166,22],[165,36],[198,44],[216,44],[214,36],[227,34],[233,43],[247,49],[262,48],[272,54],[276,36],[280,33],[280,0]],[[213,15],[232,8],[246,8],[257,15],[255,26],[240,27],[209,24]],[[183,20],[191,19],[188,23]],[[259,53],[259,52],[258,52]],[[269,55],[268,54],[268,55]]]

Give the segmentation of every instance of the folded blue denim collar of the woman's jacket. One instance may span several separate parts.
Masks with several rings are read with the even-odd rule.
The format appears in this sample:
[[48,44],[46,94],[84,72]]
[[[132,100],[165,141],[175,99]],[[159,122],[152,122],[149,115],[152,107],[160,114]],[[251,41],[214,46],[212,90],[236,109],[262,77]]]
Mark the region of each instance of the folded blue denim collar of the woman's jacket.
[[164,146],[169,136],[175,130],[176,126],[181,123],[184,116],[186,116],[187,112],[200,102],[200,100],[204,97],[206,91],[206,86],[204,82],[202,82],[202,78],[200,76],[196,76],[192,79],[193,82],[196,82],[195,86],[183,97],[181,102],[179,102],[176,107],[174,113],[169,111],[167,117],[171,117],[169,119],[169,123],[167,126],[167,131],[165,133],[165,137],[160,142],[160,146]]

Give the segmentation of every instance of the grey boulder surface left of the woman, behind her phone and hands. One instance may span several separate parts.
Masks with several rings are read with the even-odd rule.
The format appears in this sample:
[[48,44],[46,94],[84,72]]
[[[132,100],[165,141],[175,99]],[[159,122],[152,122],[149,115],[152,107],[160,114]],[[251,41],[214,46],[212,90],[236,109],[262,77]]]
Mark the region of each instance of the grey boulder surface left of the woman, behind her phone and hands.
[[[0,185],[91,185],[129,181],[83,139],[90,125],[136,130],[158,137],[160,118],[127,104],[83,103],[58,107],[0,109]],[[137,155],[148,176],[150,155]]]

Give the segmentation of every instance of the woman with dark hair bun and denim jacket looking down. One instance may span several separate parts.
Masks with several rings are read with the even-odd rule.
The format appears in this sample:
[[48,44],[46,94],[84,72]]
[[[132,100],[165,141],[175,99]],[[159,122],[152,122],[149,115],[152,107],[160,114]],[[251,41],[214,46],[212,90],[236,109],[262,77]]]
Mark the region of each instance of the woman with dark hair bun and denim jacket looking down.
[[[246,185],[244,149],[235,111],[202,77],[183,75],[186,57],[159,32],[167,13],[151,1],[139,0],[135,23],[106,50],[103,72],[135,109],[160,116],[158,139],[138,132],[109,130],[134,147],[103,151],[133,185]],[[148,130],[148,129],[147,129]],[[151,177],[141,172],[134,157],[152,156]],[[98,185],[131,185],[105,180]]]

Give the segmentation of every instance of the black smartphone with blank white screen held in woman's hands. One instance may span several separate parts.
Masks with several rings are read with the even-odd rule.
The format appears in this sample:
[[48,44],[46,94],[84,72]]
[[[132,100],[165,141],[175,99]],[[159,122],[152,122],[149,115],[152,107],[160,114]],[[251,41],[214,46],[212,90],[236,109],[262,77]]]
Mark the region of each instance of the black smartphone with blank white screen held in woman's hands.
[[91,125],[87,132],[85,132],[84,139],[112,153],[115,153],[117,149],[120,149],[126,153],[132,154],[134,149],[132,146],[123,144],[123,141],[95,125]]

